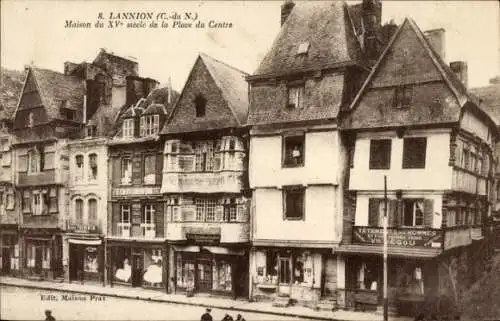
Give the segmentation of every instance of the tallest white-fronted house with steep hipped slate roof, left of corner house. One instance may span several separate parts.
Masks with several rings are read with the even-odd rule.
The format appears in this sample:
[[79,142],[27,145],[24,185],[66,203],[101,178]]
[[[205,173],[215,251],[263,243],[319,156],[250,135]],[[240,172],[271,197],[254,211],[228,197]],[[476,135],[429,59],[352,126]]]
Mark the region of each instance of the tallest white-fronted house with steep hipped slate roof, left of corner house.
[[287,1],[278,36],[247,78],[254,299],[336,304],[347,168],[338,117],[391,30],[381,10],[379,1]]

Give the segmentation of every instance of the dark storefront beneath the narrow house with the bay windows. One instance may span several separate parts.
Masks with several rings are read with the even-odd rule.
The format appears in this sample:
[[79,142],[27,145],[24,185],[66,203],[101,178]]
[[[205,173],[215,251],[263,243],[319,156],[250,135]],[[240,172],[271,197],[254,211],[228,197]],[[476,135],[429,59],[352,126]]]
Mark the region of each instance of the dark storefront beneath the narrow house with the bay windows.
[[175,292],[246,297],[248,254],[244,248],[170,245]]

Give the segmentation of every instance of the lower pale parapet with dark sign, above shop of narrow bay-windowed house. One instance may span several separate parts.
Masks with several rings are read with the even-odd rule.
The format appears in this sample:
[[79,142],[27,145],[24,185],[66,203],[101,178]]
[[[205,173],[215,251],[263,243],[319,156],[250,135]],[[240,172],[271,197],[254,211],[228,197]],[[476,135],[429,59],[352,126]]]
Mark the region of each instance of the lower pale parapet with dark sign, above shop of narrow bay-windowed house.
[[249,241],[248,222],[168,222],[169,241],[195,243],[243,243]]

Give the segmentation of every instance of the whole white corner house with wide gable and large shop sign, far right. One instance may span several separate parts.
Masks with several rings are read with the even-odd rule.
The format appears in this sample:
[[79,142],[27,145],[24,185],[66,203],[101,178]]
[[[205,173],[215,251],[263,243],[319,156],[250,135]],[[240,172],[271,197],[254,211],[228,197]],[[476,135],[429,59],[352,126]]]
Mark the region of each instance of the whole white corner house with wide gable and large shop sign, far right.
[[444,48],[443,29],[424,34],[406,19],[343,119],[344,223],[352,220],[337,249],[345,307],[383,303],[385,209],[390,307],[444,309],[481,273],[498,129],[467,90],[466,63],[448,66]]

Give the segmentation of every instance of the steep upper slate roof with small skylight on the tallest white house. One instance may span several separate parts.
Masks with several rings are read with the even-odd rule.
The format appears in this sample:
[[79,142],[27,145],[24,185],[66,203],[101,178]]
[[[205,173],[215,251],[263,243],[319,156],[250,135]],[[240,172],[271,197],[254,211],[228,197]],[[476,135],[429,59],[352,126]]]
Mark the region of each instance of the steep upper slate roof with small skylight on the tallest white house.
[[[353,21],[359,29],[358,7],[353,21],[340,1],[298,2],[254,75],[277,75],[325,68],[336,63],[362,61]],[[301,43],[310,44],[307,55],[297,55]]]

